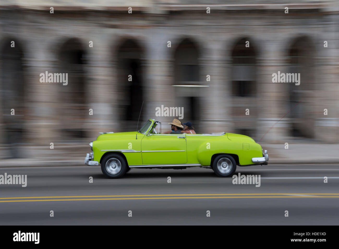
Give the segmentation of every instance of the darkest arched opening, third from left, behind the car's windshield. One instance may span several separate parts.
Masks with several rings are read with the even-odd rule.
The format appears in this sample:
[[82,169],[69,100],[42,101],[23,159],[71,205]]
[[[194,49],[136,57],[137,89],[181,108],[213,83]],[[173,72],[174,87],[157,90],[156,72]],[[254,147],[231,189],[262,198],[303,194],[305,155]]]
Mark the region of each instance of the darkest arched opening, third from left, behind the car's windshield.
[[[118,72],[118,98],[121,128],[124,131],[135,130],[140,114],[143,99],[143,74],[142,63],[143,49],[132,39],[124,40],[118,47],[117,72]],[[140,120],[143,120],[142,110]]]

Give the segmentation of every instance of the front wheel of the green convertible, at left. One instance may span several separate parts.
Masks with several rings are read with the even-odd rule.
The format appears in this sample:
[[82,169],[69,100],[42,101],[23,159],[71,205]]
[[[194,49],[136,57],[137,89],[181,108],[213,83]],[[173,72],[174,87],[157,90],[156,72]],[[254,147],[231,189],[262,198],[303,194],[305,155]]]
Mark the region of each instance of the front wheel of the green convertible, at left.
[[101,171],[108,178],[120,178],[127,170],[125,159],[118,154],[108,154],[101,161]]

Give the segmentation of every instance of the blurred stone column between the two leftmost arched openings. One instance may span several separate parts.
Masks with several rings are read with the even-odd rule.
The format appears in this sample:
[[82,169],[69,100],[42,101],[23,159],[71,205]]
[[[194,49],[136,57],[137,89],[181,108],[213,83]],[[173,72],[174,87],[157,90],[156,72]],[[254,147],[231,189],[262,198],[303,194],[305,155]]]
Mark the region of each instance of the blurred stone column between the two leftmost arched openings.
[[58,129],[58,89],[62,83],[41,83],[40,74],[58,72],[57,61],[51,50],[51,39],[45,34],[25,34],[26,66],[26,138],[29,143],[48,148],[60,138]]

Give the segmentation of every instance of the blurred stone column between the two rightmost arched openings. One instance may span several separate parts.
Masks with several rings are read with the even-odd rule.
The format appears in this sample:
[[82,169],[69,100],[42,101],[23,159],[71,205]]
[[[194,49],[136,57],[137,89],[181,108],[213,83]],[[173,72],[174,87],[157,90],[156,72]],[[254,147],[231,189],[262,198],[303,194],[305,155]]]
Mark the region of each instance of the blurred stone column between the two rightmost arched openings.
[[289,110],[288,90],[286,83],[273,83],[272,74],[285,71],[285,45],[279,38],[261,40],[260,43],[260,56],[257,58],[260,110],[257,133],[261,142],[283,142],[289,136],[288,116],[281,119]]

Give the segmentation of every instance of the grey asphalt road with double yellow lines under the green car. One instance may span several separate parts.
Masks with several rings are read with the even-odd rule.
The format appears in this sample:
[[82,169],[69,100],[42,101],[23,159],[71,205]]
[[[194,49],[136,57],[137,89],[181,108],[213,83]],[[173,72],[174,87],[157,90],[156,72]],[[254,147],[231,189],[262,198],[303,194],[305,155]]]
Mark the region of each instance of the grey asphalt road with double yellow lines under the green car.
[[199,167],[131,169],[122,179],[106,179],[100,166],[0,168],[4,173],[26,174],[27,186],[0,185],[0,225],[339,224],[338,165],[237,168],[237,175],[260,175],[260,187]]

